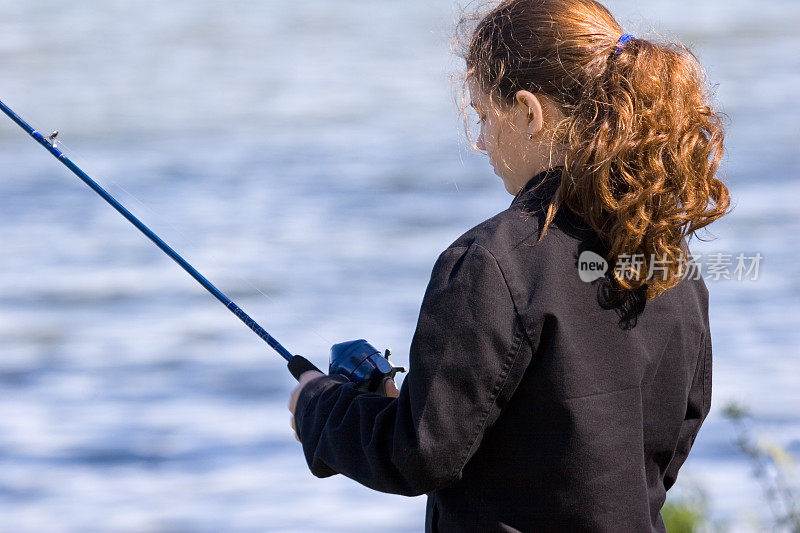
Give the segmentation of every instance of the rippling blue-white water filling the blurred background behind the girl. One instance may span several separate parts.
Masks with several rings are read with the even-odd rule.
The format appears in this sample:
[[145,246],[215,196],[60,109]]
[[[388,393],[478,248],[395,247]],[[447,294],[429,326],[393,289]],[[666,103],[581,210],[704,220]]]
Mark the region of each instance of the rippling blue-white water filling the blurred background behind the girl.
[[[714,402],[679,484],[751,531],[720,407],[800,455],[800,5],[611,2],[693,47],[730,117],[736,209],[698,253]],[[430,269],[511,197],[459,137],[450,2],[0,1],[0,98],[291,351],[407,363]],[[0,126],[0,531],[419,531],[423,498],[308,473],[292,381],[213,297],[10,121]],[[367,509],[366,516],[342,510]]]

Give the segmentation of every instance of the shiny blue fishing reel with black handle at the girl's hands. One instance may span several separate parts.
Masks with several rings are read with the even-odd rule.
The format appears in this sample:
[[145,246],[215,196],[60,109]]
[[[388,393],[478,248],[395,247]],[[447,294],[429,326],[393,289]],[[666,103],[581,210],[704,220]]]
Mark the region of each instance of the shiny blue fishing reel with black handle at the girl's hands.
[[[331,346],[331,360],[328,374],[338,374],[355,383],[359,390],[383,392],[381,385],[386,378],[394,378],[398,372],[405,372],[402,366],[393,366],[388,348],[381,352],[364,339],[340,342]],[[289,371],[296,379],[308,370],[319,369],[302,356],[295,355],[289,361]]]

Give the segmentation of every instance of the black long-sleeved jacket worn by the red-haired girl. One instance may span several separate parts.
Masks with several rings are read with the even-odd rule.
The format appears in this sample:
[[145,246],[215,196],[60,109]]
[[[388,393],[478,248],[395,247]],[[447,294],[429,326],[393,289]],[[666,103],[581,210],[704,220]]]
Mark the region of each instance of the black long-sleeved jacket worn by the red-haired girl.
[[306,386],[314,475],[427,493],[431,532],[665,531],[711,402],[708,291],[687,277],[646,301],[581,281],[580,253],[603,249],[572,211],[536,243],[559,171],[439,256],[399,398]]

